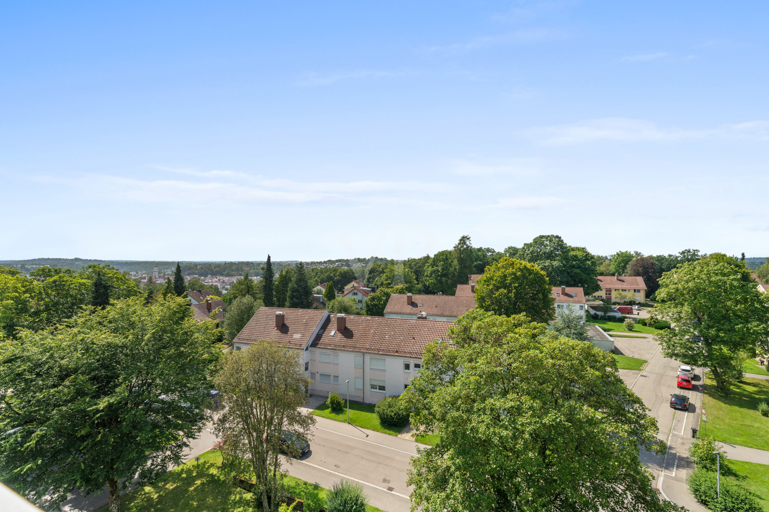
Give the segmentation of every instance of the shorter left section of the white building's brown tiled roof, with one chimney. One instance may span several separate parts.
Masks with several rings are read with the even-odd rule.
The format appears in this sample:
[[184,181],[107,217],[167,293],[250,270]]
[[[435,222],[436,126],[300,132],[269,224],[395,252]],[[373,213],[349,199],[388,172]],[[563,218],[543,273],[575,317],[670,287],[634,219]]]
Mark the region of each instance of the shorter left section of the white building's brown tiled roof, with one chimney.
[[[275,328],[275,312],[283,312],[283,326]],[[254,343],[261,339],[284,343],[288,348],[304,348],[318,323],[327,315],[323,309],[259,308],[235,336],[235,343]]]

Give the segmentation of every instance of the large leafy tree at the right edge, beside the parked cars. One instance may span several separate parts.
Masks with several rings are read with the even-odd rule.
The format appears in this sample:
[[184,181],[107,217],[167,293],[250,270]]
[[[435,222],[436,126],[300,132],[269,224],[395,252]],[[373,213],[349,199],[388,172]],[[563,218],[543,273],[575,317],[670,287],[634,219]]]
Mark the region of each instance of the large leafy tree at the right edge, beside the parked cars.
[[753,354],[769,336],[769,305],[751,273],[737,261],[712,254],[684,263],[660,278],[653,319],[674,329],[657,334],[665,357],[710,368],[717,388],[729,394],[741,352]]

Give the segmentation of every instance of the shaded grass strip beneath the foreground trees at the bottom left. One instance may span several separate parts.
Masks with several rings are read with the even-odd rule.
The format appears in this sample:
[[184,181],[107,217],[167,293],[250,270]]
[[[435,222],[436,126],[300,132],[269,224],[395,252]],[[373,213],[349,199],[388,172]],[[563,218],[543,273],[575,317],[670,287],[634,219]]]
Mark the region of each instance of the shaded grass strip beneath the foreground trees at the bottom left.
[[[195,462],[181,464],[163,474],[150,485],[135,489],[120,498],[122,512],[252,512],[254,498],[251,493],[235,487],[229,477],[219,470],[221,454],[218,450],[201,454]],[[310,494],[325,496],[320,487],[295,477],[286,476],[286,491],[297,497]],[[98,512],[108,512],[102,507]],[[367,512],[383,512],[369,506]]]

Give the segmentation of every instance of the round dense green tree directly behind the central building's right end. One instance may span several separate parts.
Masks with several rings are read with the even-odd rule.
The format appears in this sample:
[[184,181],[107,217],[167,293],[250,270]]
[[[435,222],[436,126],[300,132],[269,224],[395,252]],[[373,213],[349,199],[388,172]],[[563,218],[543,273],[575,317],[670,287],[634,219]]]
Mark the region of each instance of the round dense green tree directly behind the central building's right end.
[[524,314],[535,322],[548,322],[555,303],[552,291],[548,276],[534,263],[504,256],[478,278],[475,302],[497,315]]

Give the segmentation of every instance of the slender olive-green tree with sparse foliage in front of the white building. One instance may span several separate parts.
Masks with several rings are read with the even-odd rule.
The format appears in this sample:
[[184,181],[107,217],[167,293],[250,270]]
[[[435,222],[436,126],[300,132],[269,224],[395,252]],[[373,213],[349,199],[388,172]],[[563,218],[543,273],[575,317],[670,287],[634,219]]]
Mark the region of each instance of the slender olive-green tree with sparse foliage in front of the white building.
[[[299,355],[272,343],[255,343],[222,358],[215,377],[225,405],[215,426],[215,434],[224,439],[225,467],[235,474],[255,475],[251,492],[265,512],[278,508],[278,500],[270,500],[280,493],[276,432],[285,429],[306,438],[315,424],[315,417],[301,409],[309,398],[310,379],[299,365]],[[291,445],[288,449],[295,450]]]

